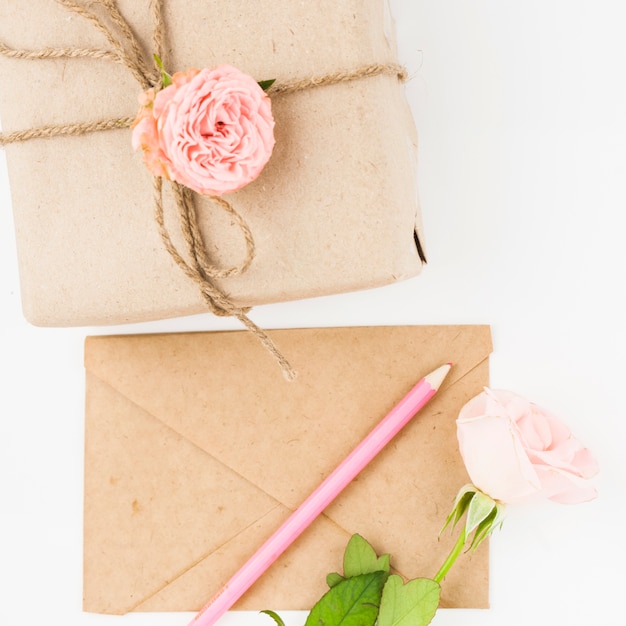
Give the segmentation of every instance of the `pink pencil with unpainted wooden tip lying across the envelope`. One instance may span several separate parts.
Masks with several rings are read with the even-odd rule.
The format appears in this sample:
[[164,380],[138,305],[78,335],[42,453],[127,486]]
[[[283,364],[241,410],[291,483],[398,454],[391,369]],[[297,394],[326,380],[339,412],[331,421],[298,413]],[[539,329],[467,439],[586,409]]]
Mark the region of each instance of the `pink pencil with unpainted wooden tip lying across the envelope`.
[[264,574],[311,522],[396,433],[435,395],[450,371],[447,363],[420,380],[322,484],[287,518],[241,569],[218,591],[189,626],[211,626]]

